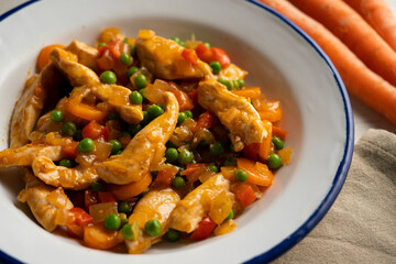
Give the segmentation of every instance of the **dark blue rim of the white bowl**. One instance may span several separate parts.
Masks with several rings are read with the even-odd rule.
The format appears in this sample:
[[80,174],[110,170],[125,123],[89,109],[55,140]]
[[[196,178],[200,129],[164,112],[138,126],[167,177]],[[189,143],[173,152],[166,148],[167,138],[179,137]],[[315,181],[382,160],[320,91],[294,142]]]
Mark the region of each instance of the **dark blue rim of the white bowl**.
[[[0,15],[0,22],[2,20],[4,20],[6,18],[10,16],[11,14],[18,12],[19,10],[21,10],[34,2],[37,2],[37,1],[40,1],[40,0],[30,0],[28,2],[24,2],[20,6],[11,9],[10,11],[7,11],[6,13]],[[353,142],[354,142],[354,131],[353,131],[354,124],[353,124],[352,108],[351,108],[351,103],[350,103],[350,100],[348,97],[345,86],[344,86],[339,73],[337,72],[334,65],[331,63],[330,58],[326,55],[326,53],[319,47],[319,45],[307,33],[305,33],[294,22],[292,22],[289,19],[287,19],[285,15],[280,14],[279,12],[268,8],[267,6],[261,3],[256,0],[245,0],[245,1],[255,4],[256,7],[275,15],[277,19],[279,19],[284,23],[289,25],[326,62],[326,64],[329,66],[330,70],[333,73],[334,80],[337,82],[337,86],[338,86],[339,91],[342,97],[342,102],[343,102],[344,112],[345,112],[345,125],[346,125],[346,139],[345,139],[344,153],[343,153],[342,160],[339,164],[339,167],[337,169],[336,177],[332,183],[332,187],[329,190],[329,193],[327,194],[327,196],[324,197],[324,199],[321,201],[321,204],[315,210],[315,212],[309,217],[309,219],[305,223],[302,223],[301,227],[299,227],[287,239],[283,240],[280,243],[278,243],[271,250],[266,251],[265,253],[254,256],[253,258],[244,262],[244,263],[253,264],[253,263],[266,263],[266,262],[273,261],[276,257],[280,256],[283,253],[285,253],[290,248],[293,248],[295,244],[297,244],[300,240],[302,240],[319,223],[319,221],[328,212],[328,210],[334,202],[337,196],[339,195],[339,193],[345,182],[348,170],[351,166],[352,153],[353,153]],[[22,263],[22,262],[18,261],[16,258],[2,252],[1,250],[0,250],[0,260],[3,262],[7,262],[7,263]]]

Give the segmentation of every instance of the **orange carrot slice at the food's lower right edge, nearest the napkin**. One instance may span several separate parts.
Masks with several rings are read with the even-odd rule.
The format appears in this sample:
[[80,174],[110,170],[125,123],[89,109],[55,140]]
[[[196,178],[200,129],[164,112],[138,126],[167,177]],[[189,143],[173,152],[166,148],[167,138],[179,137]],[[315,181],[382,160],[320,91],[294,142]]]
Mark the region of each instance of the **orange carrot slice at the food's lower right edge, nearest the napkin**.
[[272,185],[274,176],[265,164],[240,157],[237,158],[237,165],[248,173],[248,183],[258,186]]

